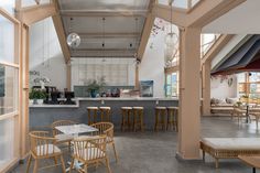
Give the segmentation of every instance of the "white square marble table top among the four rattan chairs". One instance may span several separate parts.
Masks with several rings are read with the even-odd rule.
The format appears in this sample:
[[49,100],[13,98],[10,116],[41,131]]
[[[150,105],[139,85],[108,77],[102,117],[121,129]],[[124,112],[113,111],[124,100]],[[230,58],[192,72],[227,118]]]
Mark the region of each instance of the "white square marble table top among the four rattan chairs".
[[84,125],[84,123],[69,125],[69,126],[58,126],[58,127],[56,127],[56,129],[65,134],[79,134],[79,133],[98,131],[98,129],[87,126],[87,125]]

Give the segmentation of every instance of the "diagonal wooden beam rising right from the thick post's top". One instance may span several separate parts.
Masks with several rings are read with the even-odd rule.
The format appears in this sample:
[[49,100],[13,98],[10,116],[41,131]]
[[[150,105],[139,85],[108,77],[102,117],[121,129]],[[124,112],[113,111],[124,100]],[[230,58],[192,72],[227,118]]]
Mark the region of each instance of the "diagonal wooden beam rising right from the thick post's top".
[[203,28],[246,0],[204,0],[187,15],[189,26]]

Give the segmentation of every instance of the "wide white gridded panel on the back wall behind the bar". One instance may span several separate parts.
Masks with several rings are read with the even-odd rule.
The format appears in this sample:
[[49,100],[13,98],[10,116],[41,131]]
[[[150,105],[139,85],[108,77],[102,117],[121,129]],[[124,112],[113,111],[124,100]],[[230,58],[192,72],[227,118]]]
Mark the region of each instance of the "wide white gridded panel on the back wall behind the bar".
[[73,58],[72,85],[85,86],[90,79],[105,78],[107,86],[134,85],[133,58]]

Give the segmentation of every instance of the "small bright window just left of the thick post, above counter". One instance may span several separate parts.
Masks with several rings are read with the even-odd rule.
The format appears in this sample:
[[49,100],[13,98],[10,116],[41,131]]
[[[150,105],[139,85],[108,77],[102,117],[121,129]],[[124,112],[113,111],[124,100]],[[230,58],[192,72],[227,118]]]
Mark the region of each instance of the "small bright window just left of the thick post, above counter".
[[174,72],[166,74],[166,97],[177,97],[178,96],[178,73]]

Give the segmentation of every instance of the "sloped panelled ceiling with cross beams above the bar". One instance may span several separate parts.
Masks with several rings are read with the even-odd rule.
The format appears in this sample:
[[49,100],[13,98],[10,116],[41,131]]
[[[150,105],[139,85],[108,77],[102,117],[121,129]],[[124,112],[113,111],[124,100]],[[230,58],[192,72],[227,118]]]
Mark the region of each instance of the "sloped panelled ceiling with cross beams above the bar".
[[65,34],[75,32],[82,39],[79,47],[71,50],[73,57],[98,57],[104,54],[109,57],[134,56],[150,0],[58,2]]

